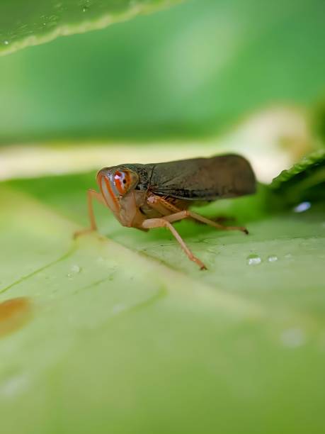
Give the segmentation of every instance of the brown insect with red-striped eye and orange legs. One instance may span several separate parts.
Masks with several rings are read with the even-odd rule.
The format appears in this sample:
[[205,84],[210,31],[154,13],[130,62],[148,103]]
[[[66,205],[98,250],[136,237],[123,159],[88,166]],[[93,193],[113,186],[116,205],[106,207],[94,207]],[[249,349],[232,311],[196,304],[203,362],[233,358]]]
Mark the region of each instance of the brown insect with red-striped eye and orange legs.
[[104,167],[98,172],[96,181],[101,193],[88,191],[91,228],[75,235],[97,229],[92,199],[108,206],[122,226],[142,230],[168,228],[188,258],[200,269],[206,269],[205,265],[193,255],[171,223],[193,218],[217,229],[241,230],[248,234],[241,226],[223,226],[188,211],[198,201],[215,201],[256,191],[251,165],[240,155]]

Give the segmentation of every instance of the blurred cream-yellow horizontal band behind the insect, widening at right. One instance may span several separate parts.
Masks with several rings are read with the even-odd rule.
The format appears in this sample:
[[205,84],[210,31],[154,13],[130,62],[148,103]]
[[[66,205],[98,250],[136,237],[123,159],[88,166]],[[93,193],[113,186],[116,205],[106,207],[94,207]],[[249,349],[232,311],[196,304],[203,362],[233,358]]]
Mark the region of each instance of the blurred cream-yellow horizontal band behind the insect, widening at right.
[[285,107],[271,108],[254,113],[224,135],[204,141],[169,138],[150,143],[144,140],[136,145],[128,140],[118,143],[107,140],[82,146],[77,141],[3,146],[0,179],[98,170],[121,162],[166,162],[237,152],[251,162],[258,181],[269,184],[314,147],[307,113]]

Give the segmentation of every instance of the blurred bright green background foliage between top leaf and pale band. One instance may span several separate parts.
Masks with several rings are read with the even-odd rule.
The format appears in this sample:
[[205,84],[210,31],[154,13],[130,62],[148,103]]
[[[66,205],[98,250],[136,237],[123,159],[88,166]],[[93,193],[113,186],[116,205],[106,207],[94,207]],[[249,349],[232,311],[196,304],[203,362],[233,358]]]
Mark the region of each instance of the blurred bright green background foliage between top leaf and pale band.
[[190,0],[2,57],[0,140],[200,137],[268,104],[310,106],[324,15],[322,0]]

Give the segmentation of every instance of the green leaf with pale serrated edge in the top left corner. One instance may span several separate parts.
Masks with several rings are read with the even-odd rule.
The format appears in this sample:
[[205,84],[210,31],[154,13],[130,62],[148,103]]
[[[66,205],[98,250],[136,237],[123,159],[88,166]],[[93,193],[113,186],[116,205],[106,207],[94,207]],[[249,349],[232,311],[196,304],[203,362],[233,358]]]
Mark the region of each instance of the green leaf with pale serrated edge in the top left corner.
[[0,4],[0,55],[58,36],[105,28],[179,0],[4,0]]

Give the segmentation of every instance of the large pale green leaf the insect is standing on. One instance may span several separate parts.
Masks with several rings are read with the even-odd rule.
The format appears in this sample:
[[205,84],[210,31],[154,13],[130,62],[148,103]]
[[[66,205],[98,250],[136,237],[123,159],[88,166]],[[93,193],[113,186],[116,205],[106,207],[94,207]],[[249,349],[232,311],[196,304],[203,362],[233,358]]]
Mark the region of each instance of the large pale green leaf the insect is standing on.
[[176,224],[200,272],[99,205],[107,238],[74,242],[94,184],[1,184],[0,300],[27,298],[0,305],[4,433],[320,433],[324,204],[270,215],[261,186],[201,208],[250,235]]

